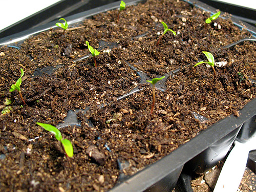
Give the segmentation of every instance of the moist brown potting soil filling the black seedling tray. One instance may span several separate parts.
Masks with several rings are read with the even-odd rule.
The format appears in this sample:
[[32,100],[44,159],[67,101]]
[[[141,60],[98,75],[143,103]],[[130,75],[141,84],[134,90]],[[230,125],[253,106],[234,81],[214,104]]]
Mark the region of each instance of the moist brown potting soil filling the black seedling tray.
[[[3,191],[107,191],[207,126],[239,117],[255,97],[256,48],[251,42],[223,48],[251,36],[230,19],[206,25],[208,12],[173,0],[127,6],[118,22],[117,14],[100,13],[65,34],[41,32],[15,45],[20,49],[0,48],[0,107],[11,108],[0,115]],[[156,46],[162,21],[177,34],[167,32]],[[86,40],[101,52],[97,67],[92,56],[83,58],[90,53]],[[206,61],[202,51],[224,63],[216,76],[205,64],[193,67]],[[20,68],[25,105],[9,92]],[[151,115],[152,86],[145,80],[161,76]],[[62,127],[74,157],[36,122]],[[120,170],[120,163],[127,166]]]

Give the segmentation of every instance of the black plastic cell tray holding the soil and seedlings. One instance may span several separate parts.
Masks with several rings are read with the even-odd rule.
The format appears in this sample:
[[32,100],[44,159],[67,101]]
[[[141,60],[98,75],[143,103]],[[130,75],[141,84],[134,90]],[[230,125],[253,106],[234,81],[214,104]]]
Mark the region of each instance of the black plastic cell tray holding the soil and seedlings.
[[[126,5],[136,4],[140,0],[126,1]],[[216,12],[212,7],[199,1],[186,1],[209,12]],[[99,12],[116,9],[120,2],[111,3],[89,11],[78,13],[66,18],[69,25],[76,25],[83,19]],[[242,28],[240,20],[233,18],[233,23]],[[29,29],[12,36],[0,39],[0,45],[13,45],[21,42],[30,35],[55,27],[55,22]],[[254,36],[256,29],[243,24]],[[11,39],[11,40],[10,40]],[[16,45],[16,44],[15,44]],[[179,70],[173,72],[178,73]],[[169,74],[172,75],[172,74]],[[134,91],[134,90],[133,90]],[[137,90],[138,91],[138,90]],[[135,93],[136,91],[134,91]],[[129,95],[129,94],[128,94]],[[177,148],[174,152],[161,160],[145,167],[135,175],[125,178],[110,191],[172,191],[176,186],[181,173],[203,173],[222,160],[236,138],[248,139],[256,132],[256,99],[253,99],[239,112],[240,116],[230,115],[225,119],[208,127],[195,138]],[[67,119],[66,119],[67,121]],[[69,124],[69,122],[65,122]],[[72,123],[71,123],[72,124]],[[77,121],[77,124],[79,122]],[[249,155],[248,165],[255,172],[255,153]],[[185,185],[185,184],[184,184]],[[185,189],[184,189],[185,190]]]

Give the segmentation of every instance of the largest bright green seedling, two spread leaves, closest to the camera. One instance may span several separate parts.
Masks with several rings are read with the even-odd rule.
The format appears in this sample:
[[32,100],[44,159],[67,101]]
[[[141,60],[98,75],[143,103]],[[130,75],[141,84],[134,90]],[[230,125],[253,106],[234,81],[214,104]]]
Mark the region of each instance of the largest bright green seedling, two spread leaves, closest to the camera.
[[63,151],[65,151],[67,157],[73,157],[74,151],[73,151],[73,146],[68,139],[63,139],[60,131],[53,125],[46,124],[46,123],[39,123],[36,122],[39,126],[44,128],[46,131],[49,131],[55,135],[55,138],[61,142],[61,147]]

